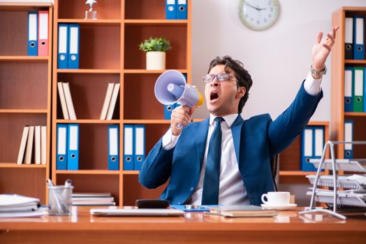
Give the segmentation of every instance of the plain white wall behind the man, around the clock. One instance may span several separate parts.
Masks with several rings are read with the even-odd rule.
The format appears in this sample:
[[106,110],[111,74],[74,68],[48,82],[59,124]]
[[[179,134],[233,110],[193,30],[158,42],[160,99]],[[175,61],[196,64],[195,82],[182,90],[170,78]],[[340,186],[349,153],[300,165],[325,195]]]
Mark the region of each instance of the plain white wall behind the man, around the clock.
[[[292,102],[312,63],[319,31],[328,33],[332,12],[366,6],[365,0],[279,0],[279,19],[265,31],[251,31],[237,15],[239,0],[192,0],[192,83],[204,91],[202,76],[215,56],[244,63],[253,79],[242,116],[270,113],[275,119]],[[324,98],[312,121],[330,120],[330,59],[323,77]],[[205,105],[195,118],[208,115]]]

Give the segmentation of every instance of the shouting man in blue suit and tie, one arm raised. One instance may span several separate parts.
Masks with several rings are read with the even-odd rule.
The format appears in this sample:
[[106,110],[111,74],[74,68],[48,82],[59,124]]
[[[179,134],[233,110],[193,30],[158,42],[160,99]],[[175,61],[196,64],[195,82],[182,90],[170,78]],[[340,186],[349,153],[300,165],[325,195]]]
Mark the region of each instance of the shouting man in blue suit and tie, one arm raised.
[[338,28],[323,39],[318,34],[309,75],[274,121],[269,114],[242,119],[251,76],[230,56],[214,59],[203,77],[210,118],[189,123],[194,107],[174,109],[170,129],[142,164],[140,183],[156,188],[169,179],[160,198],[170,204],[260,205],[261,195],[274,191],[270,158],[300,134],[323,97],[321,77]]

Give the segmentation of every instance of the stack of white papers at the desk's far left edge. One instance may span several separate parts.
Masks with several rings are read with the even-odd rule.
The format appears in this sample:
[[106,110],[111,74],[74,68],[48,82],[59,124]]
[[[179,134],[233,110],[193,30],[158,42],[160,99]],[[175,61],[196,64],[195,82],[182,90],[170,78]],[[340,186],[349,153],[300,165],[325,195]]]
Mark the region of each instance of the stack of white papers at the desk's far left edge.
[[47,212],[39,208],[39,199],[21,195],[0,195],[0,218],[40,217]]

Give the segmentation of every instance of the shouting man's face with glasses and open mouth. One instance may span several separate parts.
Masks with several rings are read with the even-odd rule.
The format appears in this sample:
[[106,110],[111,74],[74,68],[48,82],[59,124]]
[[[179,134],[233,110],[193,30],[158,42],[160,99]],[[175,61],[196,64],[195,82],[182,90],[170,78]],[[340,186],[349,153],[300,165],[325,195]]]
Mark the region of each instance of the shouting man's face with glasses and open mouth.
[[[226,73],[224,65],[214,66],[210,74],[217,75]],[[232,69],[228,68],[228,73],[235,77]],[[228,114],[237,114],[237,106],[240,98],[245,94],[245,88],[237,88],[237,82],[233,77],[224,82],[219,82],[217,77],[212,82],[206,83],[205,98],[208,111],[214,116],[226,116]],[[235,77],[236,78],[236,77]]]

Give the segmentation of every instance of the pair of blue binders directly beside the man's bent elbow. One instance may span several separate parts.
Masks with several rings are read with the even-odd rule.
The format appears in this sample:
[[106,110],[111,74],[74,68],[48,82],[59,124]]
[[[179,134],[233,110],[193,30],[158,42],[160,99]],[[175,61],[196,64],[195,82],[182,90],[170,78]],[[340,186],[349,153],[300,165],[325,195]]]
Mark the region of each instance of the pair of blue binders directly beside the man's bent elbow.
[[124,125],[124,170],[140,170],[145,160],[145,125]]

